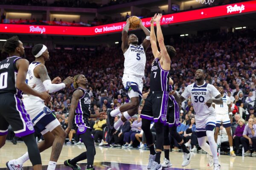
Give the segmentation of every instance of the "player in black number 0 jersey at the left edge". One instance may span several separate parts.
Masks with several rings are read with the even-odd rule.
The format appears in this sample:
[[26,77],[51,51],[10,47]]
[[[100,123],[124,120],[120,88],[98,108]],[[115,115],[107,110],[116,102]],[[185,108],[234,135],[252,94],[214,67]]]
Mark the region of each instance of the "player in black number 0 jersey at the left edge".
[[[18,37],[8,39],[3,45],[3,51],[9,57],[0,62],[0,148],[5,144],[8,126],[11,125],[15,135],[25,142],[33,169],[41,170],[41,156],[34,137],[34,127],[21,99],[23,92],[45,101],[49,101],[51,96],[47,92],[35,91],[26,84],[29,62],[20,57],[24,54],[24,47]],[[6,166],[9,170],[21,168],[10,162]]]

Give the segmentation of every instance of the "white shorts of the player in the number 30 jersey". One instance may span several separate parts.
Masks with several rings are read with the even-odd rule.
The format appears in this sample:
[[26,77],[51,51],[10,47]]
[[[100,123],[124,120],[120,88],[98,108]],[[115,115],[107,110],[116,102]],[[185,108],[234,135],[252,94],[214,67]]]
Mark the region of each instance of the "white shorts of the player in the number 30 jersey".
[[[211,125],[212,129],[207,129],[207,125]],[[198,138],[206,136],[206,130],[214,130],[216,126],[216,113],[212,112],[205,116],[198,113],[195,115],[195,127]]]

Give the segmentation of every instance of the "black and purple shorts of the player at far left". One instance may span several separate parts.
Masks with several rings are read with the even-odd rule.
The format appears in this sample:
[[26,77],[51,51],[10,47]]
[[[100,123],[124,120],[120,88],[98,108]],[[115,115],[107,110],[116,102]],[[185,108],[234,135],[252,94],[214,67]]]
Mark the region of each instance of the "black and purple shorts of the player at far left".
[[8,133],[11,125],[17,137],[34,133],[33,124],[26,112],[23,102],[15,94],[0,94],[0,136]]

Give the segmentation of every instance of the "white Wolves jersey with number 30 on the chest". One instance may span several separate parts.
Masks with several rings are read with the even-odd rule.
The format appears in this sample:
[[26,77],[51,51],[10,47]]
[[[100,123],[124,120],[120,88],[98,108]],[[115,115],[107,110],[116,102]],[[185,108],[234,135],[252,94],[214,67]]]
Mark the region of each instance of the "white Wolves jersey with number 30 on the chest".
[[215,112],[215,109],[206,105],[207,100],[220,95],[220,92],[213,86],[204,82],[198,86],[195,83],[188,85],[181,94],[185,99],[191,96],[191,101],[197,116],[205,116]]

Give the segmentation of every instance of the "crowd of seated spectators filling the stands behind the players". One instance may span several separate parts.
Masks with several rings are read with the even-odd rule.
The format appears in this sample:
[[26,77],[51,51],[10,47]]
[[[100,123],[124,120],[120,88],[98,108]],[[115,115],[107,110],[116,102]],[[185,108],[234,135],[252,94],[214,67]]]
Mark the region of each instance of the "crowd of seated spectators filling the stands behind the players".
[[[256,90],[256,31],[250,29],[236,30],[235,32],[204,31],[197,36],[191,37],[165,37],[166,44],[176,48],[177,56],[172,58],[171,77],[174,81],[174,89],[181,94],[187,85],[195,82],[194,74],[198,68],[207,73],[206,82],[223,86],[225,94],[230,96],[233,110],[232,131],[234,138],[234,149],[256,155],[256,134],[250,129],[256,130],[255,112],[255,90]],[[26,58],[33,61],[31,50],[25,49]],[[54,50],[49,51],[50,61],[46,62],[49,76],[61,77],[84,74],[88,79],[87,90],[92,97],[91,113],[106,111],[108,108],[117,108],[129,102],[127,93],[122,85],[124,57],[121,47],[113,45],[110,47],[98,46],[94,51],[78,50]],[[143,93],[149,89],[151,63],[153,55],[151,49],[146,51],[147,62],[145,66],[145,77],[143,78]],[[2,54],[0,60],[6,56]],[[53,101],[46,103],[62,122],[62,127],[67,127],[68,111],[73,88],[67,88],[52,94]],[[125,122],[116,133],[113,146],[123,147],[145,147],[145,137],[141,130],[140,112],[145,100],[142,100],[137,116]],[[180,122],[177,128],[183,136],[188,147],[192,151],[199,150],[195,133],[195,111],[190,99],[181,105]],[[116,117],[116,120],[118,117]],[[91,128],[96,136],[95,142],[106,145],[105,119],[90,119]],[[154,134],[154,125],[152,124]],[[75,130],[69,134],[76,137]],[[70,132],[70,133],[71,133]],[[219,132],[218,144],[227,141],[227,132],[223,127]],[[77,139],[76,142],[79,140]],[[172,148],[178,150],[178,144],[172,141]],[[72,143],[72,137],[69,138]]]

